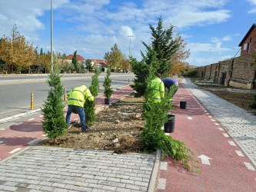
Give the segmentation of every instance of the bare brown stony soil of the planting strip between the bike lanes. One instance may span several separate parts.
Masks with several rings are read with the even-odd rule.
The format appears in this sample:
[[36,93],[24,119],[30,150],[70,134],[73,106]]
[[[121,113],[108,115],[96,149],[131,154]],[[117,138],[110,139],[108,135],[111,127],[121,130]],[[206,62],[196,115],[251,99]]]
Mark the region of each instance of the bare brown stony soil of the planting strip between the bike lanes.
[[[138,103],[143,99],[131,95],[124,101]],[[110,108],[98,112],[96,123],[90,127],[91,131],[81,133],[80,125],[72,126],[64,136],[57,138],[56,143],[47,140],[43,145],[107,150],[118,154],[142,152],[140,134],[145,121],[141,117],[141,111],[141,104],[113,104]]]

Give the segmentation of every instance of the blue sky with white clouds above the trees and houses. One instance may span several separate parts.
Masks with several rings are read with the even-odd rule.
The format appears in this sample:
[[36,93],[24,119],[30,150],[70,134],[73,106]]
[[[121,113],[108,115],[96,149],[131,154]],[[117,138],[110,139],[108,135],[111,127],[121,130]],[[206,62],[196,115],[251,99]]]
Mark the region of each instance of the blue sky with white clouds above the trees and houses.
[[[203,66],[234,57],[256,23],[256,0],[53,0],[53,47],[103,59],[116,43],[128,56],[133,35],[131,55],[141,60],[141,41],[150,43],[148,26],[159,16],[188,43],[188,63]],[[39,50],[50,50],[51,0],[0,0],[0,37],[14,25]]]

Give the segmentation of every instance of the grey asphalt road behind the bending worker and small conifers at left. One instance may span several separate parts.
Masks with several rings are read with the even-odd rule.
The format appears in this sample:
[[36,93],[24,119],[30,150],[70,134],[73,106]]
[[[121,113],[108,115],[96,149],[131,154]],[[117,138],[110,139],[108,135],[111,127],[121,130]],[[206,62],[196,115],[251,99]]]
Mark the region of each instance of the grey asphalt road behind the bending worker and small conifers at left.
[[[99,76],[100,94],[103,93],[103,81],[105,79],[103,73]],[[92,74],[65,74],[62,77],[63,88],[71,91],[72,88],[86,84],[91,85]],[[111,88],[120,88],[131,83],[134,74],[111,73]],[[12,118],[17,114],[28,113],[31,110],[31,93],[34,93],[34,109],[35,111],[42,107],[44,100],[47,98],[49,86],[45,79],[47,75],[33,74],[33,76],[2,76],[0,77],[0,121],[6,118]],[[0,122],[1,123],[1,122]]]

